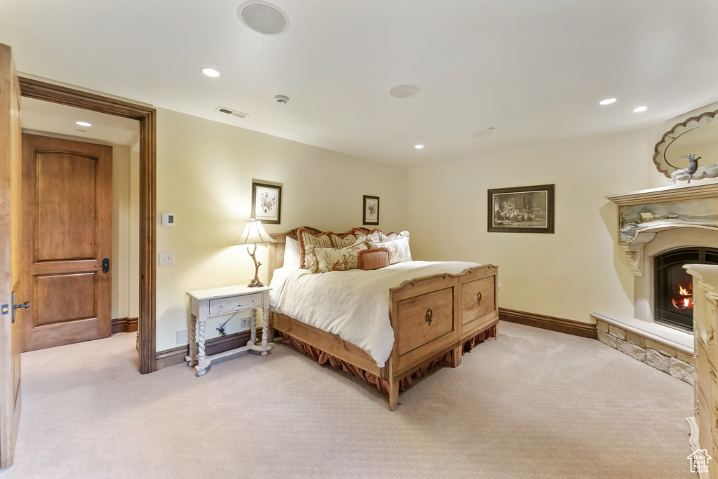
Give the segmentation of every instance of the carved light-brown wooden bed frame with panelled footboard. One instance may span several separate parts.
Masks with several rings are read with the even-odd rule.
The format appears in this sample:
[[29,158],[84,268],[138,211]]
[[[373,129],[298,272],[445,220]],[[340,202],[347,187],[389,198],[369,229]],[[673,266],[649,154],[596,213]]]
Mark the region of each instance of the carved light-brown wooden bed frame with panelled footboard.
[[[298,229],[271,235],[276,243],[269,243],[270,282],[274,270],[284,264],[286,236],[297,238]],[[389,318],[394,345],[383,368],[358,346],[277,312],[270,313],[270,336],[274,329],[279,330],[387,381],[389,409],[393,411],[401,378],[446,353],[451,353],[456,368],[464,343],[498,323],[497,274],[497,266],[475,266],[460,274],[422,276],[391,288]]]

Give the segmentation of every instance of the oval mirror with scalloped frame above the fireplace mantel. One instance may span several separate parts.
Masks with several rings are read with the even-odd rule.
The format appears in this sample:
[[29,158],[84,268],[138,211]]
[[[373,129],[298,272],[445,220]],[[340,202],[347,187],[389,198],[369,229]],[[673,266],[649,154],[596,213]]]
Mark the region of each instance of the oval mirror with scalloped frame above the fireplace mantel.
[[[656,144],[653,163],[658,171],[671,178],[676,169],[689,169],[690,157],[700,157],[692,175],[673,175],[678,180],[700,180],[718,177],[718,111],[707,111],[673,126]],[[695,167],[695,165],[694,165]]]

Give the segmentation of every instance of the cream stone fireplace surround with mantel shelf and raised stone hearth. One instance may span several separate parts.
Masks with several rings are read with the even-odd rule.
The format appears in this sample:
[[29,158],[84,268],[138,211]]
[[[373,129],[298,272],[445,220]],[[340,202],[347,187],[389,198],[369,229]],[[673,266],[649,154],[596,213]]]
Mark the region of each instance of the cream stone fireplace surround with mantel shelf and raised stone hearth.
[[[619,207],[664,201],[718,197],[718,183],[683,185],[607,196]],[[694,383],[694,337],[654,321],[654,258],[676,248],[718,245],[718,228],[705,225],[664,225],[647,228],[618,247],[628,257],[634,275],[634,317],[592,313],[598,339],[633,358],[686,383]]]

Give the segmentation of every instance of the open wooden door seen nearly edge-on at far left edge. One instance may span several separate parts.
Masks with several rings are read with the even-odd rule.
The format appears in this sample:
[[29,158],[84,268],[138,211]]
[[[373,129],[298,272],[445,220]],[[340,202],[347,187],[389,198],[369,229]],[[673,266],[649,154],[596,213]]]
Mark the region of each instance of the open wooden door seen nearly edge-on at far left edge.
[[[12,465],[20,418],[20,86],[10,47],[0,45],[0,469]],[[24,301],[20,298],[20,301]]]

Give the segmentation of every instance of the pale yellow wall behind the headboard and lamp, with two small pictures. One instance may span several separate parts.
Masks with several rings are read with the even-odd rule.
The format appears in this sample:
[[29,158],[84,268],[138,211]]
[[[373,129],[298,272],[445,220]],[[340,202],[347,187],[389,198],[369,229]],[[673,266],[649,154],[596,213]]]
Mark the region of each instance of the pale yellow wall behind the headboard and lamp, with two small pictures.
[[[157,350],[174,348],[176,332],[187,330],[187,291],[253,278],[246,248],[231,246],[251,214],[253,179],[284,184],[281,225],[266,225],[270,233],[359,226],[363,195],[381,197],[381,227],[407,226],[406,169],[159,109],[157,252],[173,252],[174,266],[157,266]],[[162,213],[174,213],[173,226],[160,224]],[[257,256],[265,280],[266,248]],[[217,322],[208,322],[208,338]]]

